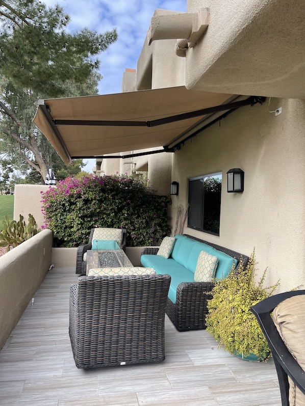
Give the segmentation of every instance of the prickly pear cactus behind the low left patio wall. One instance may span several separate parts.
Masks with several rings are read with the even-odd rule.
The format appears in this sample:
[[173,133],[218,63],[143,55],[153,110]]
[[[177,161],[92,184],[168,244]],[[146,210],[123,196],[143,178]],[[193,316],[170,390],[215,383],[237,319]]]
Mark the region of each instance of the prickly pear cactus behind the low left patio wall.
[[32,214],[29,214],[28,225],[23,221],[23,216],[19,214],[19,221],[13,220],[10,222],[8,216],[2,221],[3,230],[0,232],[0,247],[6,247],[6,251],[10,251],[10,247],[17,247],[23,241],[33,237],[39,233],[37,223]]

